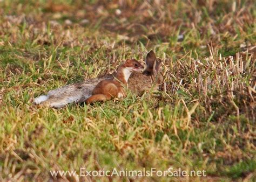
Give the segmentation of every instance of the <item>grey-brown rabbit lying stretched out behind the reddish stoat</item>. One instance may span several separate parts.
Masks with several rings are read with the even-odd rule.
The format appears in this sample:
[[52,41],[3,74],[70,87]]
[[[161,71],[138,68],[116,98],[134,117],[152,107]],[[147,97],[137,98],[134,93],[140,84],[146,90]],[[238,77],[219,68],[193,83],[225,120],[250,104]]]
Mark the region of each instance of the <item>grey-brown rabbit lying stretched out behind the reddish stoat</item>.
[[[132,93],[142,95],[145,91],[158,90],[163,76],[159,73],[161,60],[156,57],[153,51],[147,53],[146,69],[143,73],[134,72],[128,80],[128,88]],[[92,90],[102,80],[112,80],[113,74],[106,74],[101,78],[85,80],[83,82],[66,85],[54,90],[50,90],[47,95],[41,95],[34,99],[33,103],[43,104],[53,108],[62,108],[69,103],[85,102],[92,95]]]

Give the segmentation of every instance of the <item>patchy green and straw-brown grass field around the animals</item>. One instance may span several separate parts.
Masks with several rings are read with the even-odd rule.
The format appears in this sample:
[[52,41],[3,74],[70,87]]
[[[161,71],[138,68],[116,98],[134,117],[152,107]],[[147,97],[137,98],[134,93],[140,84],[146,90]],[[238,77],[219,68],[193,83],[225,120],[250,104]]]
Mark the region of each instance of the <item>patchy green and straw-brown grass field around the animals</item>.
[[[50,170],[80,167],[170,166],[207,176],[79,180],[255,180],[253,1],[0,6],[1,181],[57,180]],[[95,106],[32,104],[50,89],[111,72],[126,58],[142,61],[149,50],[164,63],[159,92]]]

